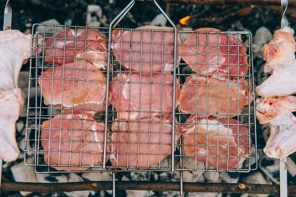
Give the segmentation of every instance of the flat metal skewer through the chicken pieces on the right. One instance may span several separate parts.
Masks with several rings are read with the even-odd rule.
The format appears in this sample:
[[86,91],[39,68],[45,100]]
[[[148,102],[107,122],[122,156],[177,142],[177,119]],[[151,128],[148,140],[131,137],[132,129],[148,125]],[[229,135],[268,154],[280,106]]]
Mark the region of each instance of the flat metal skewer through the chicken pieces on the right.
[[[288,8],[289,0],[281,0],[283,7],[283,17],[281,20],[281,28],[288,26],[288,19],[286,16],[286,11]],[[285,131],[287,129],[286,125],[280,125],[279,132]],[[280,158],[280,196],[288,197],[288,185],[287,185],[287,157]]]

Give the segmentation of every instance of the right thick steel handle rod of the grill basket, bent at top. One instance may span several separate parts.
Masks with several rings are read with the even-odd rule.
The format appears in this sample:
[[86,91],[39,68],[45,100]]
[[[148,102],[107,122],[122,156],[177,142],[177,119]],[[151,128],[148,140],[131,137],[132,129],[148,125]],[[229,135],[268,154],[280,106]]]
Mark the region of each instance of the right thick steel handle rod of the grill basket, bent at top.
[[153,0],[156,7],[160,10],[162,15],[169,21],[169,23],[173,26],[175,36],[174,36],[174,82],[173,82],[173,120],[172,120],[172,171],[174,171],[174,162],[175,162],[175,116],[176,116],[176,79],[177,79],[177,26],[174,24],[174,22],[170,19],[170,17],[163,11],[163,9],[159,6],[159,4],[156,2],[156,0]]

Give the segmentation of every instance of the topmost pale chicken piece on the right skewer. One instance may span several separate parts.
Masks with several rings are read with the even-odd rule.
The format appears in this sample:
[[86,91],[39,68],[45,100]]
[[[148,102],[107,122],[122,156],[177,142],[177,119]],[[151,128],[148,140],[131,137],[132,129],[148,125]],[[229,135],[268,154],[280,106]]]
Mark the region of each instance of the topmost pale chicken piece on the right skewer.
[[265,73],[272,73],[277,66],[290,67],[295,60],[294,30],[289,26],[275,31],[272,40],[262,47]]

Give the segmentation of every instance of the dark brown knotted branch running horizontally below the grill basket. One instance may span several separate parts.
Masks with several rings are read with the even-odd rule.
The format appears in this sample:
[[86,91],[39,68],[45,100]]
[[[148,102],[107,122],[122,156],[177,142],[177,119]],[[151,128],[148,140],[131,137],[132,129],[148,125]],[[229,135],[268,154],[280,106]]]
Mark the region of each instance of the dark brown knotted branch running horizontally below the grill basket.
[[[146,190],[146,191],[180,191],[179,182],[165,181],[116,181],[116,190]],[[72,183],[25,183],[2,181],[3,191],[24,191],[54,193],[73,191],[103,191],[112,190],[112,181],[89,181]],[[279,185],[236,184],[236,183],[183,183],[185,192],[213,192],[239,194],[279,195]],[[296,195],[296,186],[288,186],[288,195]]]

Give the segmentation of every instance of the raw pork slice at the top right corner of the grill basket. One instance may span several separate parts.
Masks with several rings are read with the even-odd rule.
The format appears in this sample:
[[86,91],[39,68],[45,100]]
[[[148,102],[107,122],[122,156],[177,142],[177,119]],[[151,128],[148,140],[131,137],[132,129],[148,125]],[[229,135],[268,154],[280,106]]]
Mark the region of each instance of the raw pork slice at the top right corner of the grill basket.
[[[221,32],[214,28],[200,28],[195,31],[199,32]],[[208,38],[207,38],[208,36]],[[239,41],[238,41],[239,40]],[[228,49],[228,41],[229,46]],[[186,45],[185,45],[186,44]],[[198,33],[198,45],[197,47],[197,33],[191,33],[189,37],[185,40],[180,48],[180,56],[188,64],[192,71],[207,74],[209,77],[218,78],[219,69],[219,79],[226,80],[229,77],[237,78],[237,75],[246,75],[249,69],[248,58],[246,54],[246,47],[243,41],[237,37],[236,34],[229,34],[229,39],[227,34],[219,34],[219,51],[218,51],[218,33]],[[202,45],[203,44],[203,45]],[[209,44],[209,46],[207,46]],[[237,45],[240,45],[237,47]],[[225,46],[227,45],[227,46]],[[197,57],[198,48],[198,57]],[[209,55],[207,55],[209,54]],[[217,55],[214,55],[217,54]],[[219,56],[218,56],[219,54]],[[228,58],[229,54],[229,58]],[[237,57],[239,54],[239,57]],[[219,59],[219,67],[218,67]],[[238,61],[239,60],[239,61]],[[198,63],[198,64],[196,64]],[[209,63],[209,69],[208,65]],[[229,64],[229,67],[228,67]],[[238,66],[239,64],[239,66]],[[213,74],[213,75],[212,75]]]

